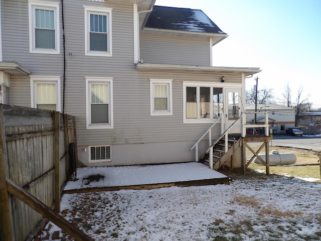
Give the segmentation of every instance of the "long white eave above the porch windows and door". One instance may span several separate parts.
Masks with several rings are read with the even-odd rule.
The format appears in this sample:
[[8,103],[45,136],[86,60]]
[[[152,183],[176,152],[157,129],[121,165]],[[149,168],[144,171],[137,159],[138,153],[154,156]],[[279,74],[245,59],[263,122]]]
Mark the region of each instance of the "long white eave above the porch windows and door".
[[193,72],[193,73],[244,73],[245,76],[261,72],[260,68],[246,67],[217,67],[217,66],[192,66],[192,65],[170,65],[170,64],[148,64],[137,63],[138,71],[160,71],[160,72]]

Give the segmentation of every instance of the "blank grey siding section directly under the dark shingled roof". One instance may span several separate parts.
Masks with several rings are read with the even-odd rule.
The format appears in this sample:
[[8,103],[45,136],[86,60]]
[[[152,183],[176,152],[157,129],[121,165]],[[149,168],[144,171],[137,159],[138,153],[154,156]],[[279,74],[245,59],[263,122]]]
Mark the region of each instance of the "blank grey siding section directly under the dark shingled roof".
[[141,34],[140,59],[151,64],[210,66],[210,40]]

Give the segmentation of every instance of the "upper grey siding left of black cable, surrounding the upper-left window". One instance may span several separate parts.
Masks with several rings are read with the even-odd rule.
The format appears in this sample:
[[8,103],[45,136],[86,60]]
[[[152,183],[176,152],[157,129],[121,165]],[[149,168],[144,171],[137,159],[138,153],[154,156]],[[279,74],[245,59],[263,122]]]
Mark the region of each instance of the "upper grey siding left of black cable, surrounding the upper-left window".
[[[57,1],[55,1],[57,2]],[[29,53],[28,1],[2,0],[3,61],[18,62],[32,75],[62,75],[62,54]],[[61,18],[61,3],[60,3]],[[60,52],[62,53],[62,26],[60,24]]]

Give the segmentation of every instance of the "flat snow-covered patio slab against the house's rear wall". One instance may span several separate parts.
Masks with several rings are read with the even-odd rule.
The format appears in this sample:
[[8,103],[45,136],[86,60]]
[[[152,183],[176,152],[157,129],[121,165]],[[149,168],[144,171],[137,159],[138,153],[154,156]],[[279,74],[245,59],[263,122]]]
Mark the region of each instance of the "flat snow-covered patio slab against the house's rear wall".
[[[227,178],[199,162],[163,165],[77,168],[77,180],[66,184],[64,190],[148,185]],[[95,181],[90,181],[96,179]]]

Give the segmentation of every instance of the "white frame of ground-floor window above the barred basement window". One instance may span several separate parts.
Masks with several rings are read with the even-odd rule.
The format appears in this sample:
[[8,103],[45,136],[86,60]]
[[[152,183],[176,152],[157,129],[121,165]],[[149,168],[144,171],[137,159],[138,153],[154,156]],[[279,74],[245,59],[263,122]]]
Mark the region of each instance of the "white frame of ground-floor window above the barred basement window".
[[[113,129],[113,78],[112,77],[85,77],[86,79],[86,129]],[[91,93],[89,93],[89,85],[90,84],[108,84],[109,91],[109,103],[108,103],[108,116],[109,123],[108,124],[91,124],[91,107],[90,107],[90,98]]]

